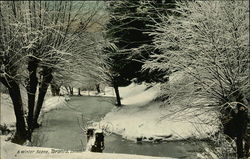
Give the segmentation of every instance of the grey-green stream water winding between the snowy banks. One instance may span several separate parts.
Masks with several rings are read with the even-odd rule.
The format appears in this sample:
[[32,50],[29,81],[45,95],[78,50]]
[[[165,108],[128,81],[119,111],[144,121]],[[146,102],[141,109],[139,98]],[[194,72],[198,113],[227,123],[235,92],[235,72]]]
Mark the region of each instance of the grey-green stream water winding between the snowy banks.
[[[90,120],[100,121],[113,108],[112,100],[104,97],[72,97],[68,106],[44,114],[42,127],[33,134],[33,145],[72,151],[85,150],[86,135],[81,131],[78,121],[83,125]],[[105,136],[104,152],[109,153],[194,158],[194,151],[197,150],[199,144],[187,141],[137,144],[119,135]]]

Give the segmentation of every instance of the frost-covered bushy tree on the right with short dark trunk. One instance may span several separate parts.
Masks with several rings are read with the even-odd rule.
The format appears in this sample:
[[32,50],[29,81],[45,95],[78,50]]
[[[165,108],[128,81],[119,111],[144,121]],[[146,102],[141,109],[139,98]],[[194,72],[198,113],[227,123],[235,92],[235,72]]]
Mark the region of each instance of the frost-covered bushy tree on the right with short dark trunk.
[[[249,107],[249,5],[246,1],[183,2],[178,16],[162,16],[154,44],[164,54],[153,55],[144,69],[175,73],[162,87],[166,103],[219,113],[235,105]],[[166,76],[168,78],[169,76]],[[176,108],[176,107],[175,107]],[[243,156],[246,113],[238,113],[237,153]],[[225,126],[225,123],[223,123]]]

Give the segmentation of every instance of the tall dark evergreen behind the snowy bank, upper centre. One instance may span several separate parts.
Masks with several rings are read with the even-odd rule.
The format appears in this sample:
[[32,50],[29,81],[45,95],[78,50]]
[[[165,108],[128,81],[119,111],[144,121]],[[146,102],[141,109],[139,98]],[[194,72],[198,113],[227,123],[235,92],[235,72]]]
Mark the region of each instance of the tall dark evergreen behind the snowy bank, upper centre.
[[159,54],[152,43],[152,32],[159,13],[167,13],[173,8],[174,1],[162,0],[127,0],[111,1],[108,11],[110,19],[106,25],[106,38],[117,49],[105,49],[112,59],[112,72],[115,74],[113,83],[118,86],[128,85],[133,78],[138,82],[161,80],[164,74],[159,71],[141,71],[143,62],[150,54]]

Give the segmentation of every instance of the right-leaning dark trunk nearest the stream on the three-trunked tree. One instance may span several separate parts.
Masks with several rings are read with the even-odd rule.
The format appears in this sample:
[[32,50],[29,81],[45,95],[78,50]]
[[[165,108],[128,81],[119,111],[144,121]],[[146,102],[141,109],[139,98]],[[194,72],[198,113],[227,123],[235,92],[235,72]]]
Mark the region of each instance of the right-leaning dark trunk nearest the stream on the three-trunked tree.
[[53,76],[51,73],[52,72],[50,69],[44,70],[43,80],[42,80],[41,85],[39,87],[38,100],[36,103],[36,110],[35,110],[35,115],[34,115],[34,128],[39,127],[39,124],[37,121],[38,121],[38,117],[39,117],[39,114],[40,114],[40,111],[41,111],[41,108],[43,105],[44,97],[47,93],[49,84],[53,79]]

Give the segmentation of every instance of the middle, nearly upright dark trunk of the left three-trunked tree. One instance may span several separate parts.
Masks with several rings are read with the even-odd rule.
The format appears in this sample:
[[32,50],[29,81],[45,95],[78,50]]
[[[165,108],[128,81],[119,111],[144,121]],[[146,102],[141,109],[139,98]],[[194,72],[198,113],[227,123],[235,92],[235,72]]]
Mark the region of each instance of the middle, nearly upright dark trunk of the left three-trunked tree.
[[29,71],[29,79],[27,89],[28,95],[28,130],[29,130],[29,138],[31,137],[31,133],[33,130],[33,116],[34,116],[34,107],[35,107],[35,98],[36,98],[36,89],[38,84],[38,79],[36,77],[38,61],[35,59],[30,59],[28,63],[28,71]]

